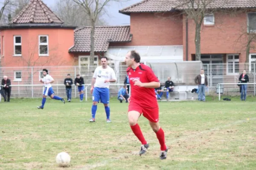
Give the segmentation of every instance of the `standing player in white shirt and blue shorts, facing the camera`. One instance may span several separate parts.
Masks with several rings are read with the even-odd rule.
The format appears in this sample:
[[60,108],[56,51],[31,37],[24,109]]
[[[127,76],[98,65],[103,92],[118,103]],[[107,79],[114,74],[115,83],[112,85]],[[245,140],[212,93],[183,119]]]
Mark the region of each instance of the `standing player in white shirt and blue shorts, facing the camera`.
[[90,89],[93,94],[92,118],[90,122],[95,122],[97,104],[101,101],[105,106],[107,122],[110,120],[109,108],[109,84],[116,81],[114,70],[108,66],[108,58],[101,58],[101,66],[97,67],[93,73],[92,87]]

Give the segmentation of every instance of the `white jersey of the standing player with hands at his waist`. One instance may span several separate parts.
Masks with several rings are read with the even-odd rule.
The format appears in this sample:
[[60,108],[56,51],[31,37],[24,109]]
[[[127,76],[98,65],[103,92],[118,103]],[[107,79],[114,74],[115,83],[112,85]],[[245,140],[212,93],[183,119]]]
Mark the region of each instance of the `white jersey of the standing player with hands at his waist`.
[[93,78],[96,78],[95,87],[109,88],[110,82],[104,83],[104,81],[108,79],[116,80],[116,74],[110,66],[107,66],[106,69],[103,69],[102,66],[98,66],[93,73]]

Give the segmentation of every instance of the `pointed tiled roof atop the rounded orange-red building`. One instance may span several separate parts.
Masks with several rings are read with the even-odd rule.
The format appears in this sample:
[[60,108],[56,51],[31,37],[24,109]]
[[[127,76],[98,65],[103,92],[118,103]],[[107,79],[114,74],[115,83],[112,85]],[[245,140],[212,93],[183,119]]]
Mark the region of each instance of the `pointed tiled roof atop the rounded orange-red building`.
[[41,0],[30,0],[11,23],[64,23]]

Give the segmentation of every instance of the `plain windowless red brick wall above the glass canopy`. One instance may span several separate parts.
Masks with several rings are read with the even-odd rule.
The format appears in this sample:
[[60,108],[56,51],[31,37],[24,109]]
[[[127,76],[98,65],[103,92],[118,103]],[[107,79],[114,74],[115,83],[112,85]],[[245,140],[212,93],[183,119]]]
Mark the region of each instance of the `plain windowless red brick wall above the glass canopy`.
[[132,13],[131,34],[132,42],[124,45],[182,45],[182,16],[174,13]]

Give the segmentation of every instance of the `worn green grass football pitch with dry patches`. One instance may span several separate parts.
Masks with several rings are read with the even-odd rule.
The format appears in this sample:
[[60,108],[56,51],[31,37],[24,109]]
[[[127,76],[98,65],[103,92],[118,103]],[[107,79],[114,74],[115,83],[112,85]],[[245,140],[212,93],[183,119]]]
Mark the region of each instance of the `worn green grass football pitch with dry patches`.
[[[169,147],[166,160],[148,121],[140,127],[150,147],[139,156],[140,142],[132,133],[128,104],[111,101],[111,123],[98,106],[89,123],[91,102],[62,104],[47,98],[0,103],[0,169],[2,170],[183,170],[256,169],[256,107],[242,102],[160,102],[160,125]],[[61,168],[55,156],[65,151],[71,165]]]

